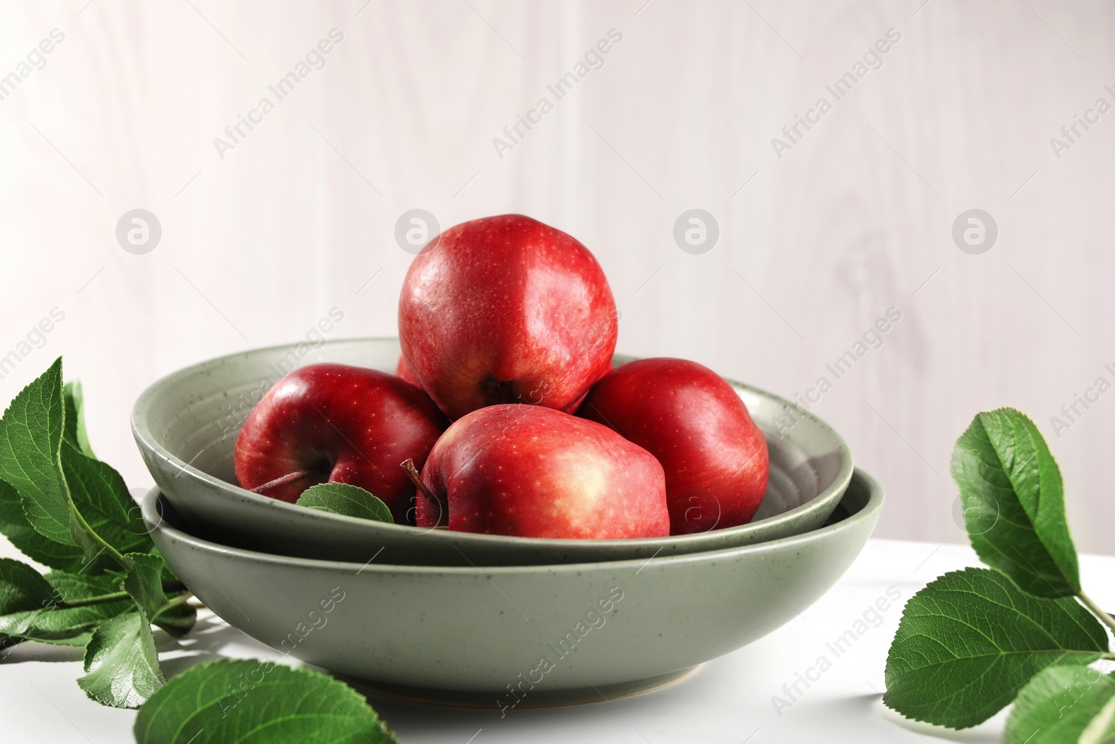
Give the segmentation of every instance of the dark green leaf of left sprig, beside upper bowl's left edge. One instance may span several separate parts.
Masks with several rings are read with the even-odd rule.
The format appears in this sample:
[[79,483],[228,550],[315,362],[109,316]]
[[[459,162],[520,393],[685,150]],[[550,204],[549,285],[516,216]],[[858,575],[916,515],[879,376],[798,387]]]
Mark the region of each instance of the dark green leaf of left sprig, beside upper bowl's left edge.
[[74,505],[90,529],[122,553],[154,549],[139,506],[112,465],[93,460],[69,442],[61,445],[61,464]]

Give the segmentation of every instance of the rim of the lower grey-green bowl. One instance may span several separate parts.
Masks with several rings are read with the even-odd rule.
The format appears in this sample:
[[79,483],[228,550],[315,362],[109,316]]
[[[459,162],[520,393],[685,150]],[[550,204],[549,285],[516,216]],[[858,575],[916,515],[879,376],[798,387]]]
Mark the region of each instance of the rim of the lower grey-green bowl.
[[[663,555],[661,558],[656,558],[651,555],[650,558],[634,558],[624,560],[602,560],[602,561],[586,561],[583,563],[534,563],[527,566],[411,566],[407,563],[374,563],[372,560],[360,564],[355,561],[334,561],[320,558],[297,558],[293,555],[281,555],[278,553],[264,553],[255,550],[248,550],[245,548],[235,548],[232,545],[223,545],[221,543],[213,542],[211,540],[205,540],[203,538],[197,538],[190,534],[188,532],[183,532],[176,526],[166,523],[163,520],[163,514],[157,511],[157,503],[159,499],[163,497],[162,491],[158,486],[155,486],[147,492],[143,497],[140,504],[140,510],[143,513],[143,520],[148,525],[149,532],[162,532],[167,535],[167,539],[173,540],[177,543],[185,543],[195,550],[201,550],[209,553],[220,553],[223,555],[229,555],[232,558],[240,558],[243,560],[255,561],[258,563],[270,563],[273,566],[285,566],[290,568],[300,569],[318,569],[318,570],[329,570],[329,571],[345,571],[358,576],[365,571],[371,573],[411,573],[411,574],[437,574],[437,576],[459,576],[473,572],[481,572],[483,576],[536,576],[546,573],[570,573],[570,572],[585,572],[585,571],[597,571],[597,570],[614,570],[622,571],[624,569],[638,568],[641,571],[643,568],[653,563],[656,567],[661,566],[675,566],[681,563],[691,562],[705,562],[705,561],[716,561],[726,560],[739,557],[746,557],[748,554],[762,554],[764,552],[776,550],[779,548],[791,548],[795,544],[804,544],[815,540],[822,540],[830,535],[834,535],[838,532],[844,532],[847,530],[856,529],[864,522],[871,522],[878,520],[883,508],[883,487],[882,484],[875,480],[874,476],[869,474],[866,471],[856,467],[853,477],[863,481],[864,486],[867,492],[867,501],[860,511],[854,514],[849,515],[841,521],[828,524],[826,526],[818,528],[816,530],[811,530],[802,534],[787,535],[785,538],[778,538],[775,540],[767,540],[765,542],[756,542],[749,545],[737,545],[735,548],[721,548],[719,550],[707,550],[696,553],[682,553],[678,555]],[[851,484],[849,484],[851,487]],[[845,496],[841,496],[841,501]],[[870,534],[869,534],[870,538]],[[749,561],[748,561],[749,562]],[[753,568],[755,568],[753,566]],[[757,569],[756,569],[757,570]]]

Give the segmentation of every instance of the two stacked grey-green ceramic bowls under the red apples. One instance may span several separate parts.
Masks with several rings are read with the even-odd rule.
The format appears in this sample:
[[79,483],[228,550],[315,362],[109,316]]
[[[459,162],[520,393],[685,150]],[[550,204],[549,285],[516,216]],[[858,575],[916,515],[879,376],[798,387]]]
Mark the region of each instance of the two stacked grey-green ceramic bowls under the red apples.
[[763,505],[739,526],[638,540],[473,534],[235,484],[236,433],[261,384],[294,365],[391,371],[398,358],[395,339],[248,351],[157,381],[133,414],[157,484],[144,519],[178,577],[230,625],[365,688],[515,706],[665,684],[795,618],[879,520],[882,491],[840,435],[736,383],[770,453]]

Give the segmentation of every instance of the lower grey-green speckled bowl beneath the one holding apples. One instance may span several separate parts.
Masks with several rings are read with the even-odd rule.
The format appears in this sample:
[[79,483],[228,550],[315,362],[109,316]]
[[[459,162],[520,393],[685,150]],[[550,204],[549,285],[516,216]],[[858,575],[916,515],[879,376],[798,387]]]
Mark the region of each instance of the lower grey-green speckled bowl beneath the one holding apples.
[[879,483],[855,471],[830,523],[805,534],[482,570],[227,547],[182,531],[164,499],[153,490],[143,503],[155,544],[229,624],[380,693],[493,707],[636,692],[762,638],[836,582],[883,505]]

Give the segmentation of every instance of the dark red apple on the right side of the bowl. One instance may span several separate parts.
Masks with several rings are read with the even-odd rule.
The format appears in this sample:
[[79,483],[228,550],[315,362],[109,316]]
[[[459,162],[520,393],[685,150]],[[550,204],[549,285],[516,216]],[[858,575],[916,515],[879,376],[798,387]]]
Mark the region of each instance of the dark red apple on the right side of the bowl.
[[610,371],[579,416],[647,448],[666,471],[670,533],[749,522],[766,492],[766,438],[724,378],[685,359],[640,359]]

